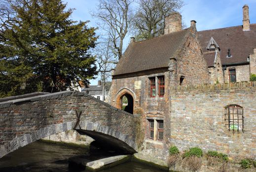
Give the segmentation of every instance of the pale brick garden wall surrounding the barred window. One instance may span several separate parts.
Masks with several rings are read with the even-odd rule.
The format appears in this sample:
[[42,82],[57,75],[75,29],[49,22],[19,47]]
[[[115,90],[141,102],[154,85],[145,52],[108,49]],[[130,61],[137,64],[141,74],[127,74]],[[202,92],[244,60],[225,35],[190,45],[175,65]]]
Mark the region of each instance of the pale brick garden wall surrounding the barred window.
[[[170,145],[181,150],[198,146],[230,157],[256,157],[256,82],[174,86],[171,88]],[[225,106],[244,110],[244,131],[225,126]]]

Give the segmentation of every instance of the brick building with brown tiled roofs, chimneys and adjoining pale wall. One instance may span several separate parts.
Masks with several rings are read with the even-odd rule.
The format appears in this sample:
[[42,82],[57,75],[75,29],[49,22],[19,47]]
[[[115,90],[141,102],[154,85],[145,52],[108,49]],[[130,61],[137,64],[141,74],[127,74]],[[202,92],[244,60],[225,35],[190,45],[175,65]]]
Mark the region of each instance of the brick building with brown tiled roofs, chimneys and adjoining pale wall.
[[[250,88],[250,94],[255,93],[255,84],[244,86],[238,83],[237,87],[232,85],[233,82],[249,81],[250,75],[256,74],[256,24],[250,24],[248,10],[249,7],[245,5],[243,26],[205,31],[197,31],[195,21],[191,21],[189,28],[182,29],[182,16],[174,12],[166,18],[164,35],[138,42],[131,38],[123,57],[112,71],[109,102],[121,109],[125,96],[128,100],[125,111],[142,116],[144,132],[140,152],[147,155],[147,160],[150,156],[166,160],[168,148],[173,144],[181,150],[203,145],[205,150],[221,150],[230,156],[256,156],[255,149],[249,153],[248,149],[236,153],[228,149],[230,146],[240,150],[241,147],[234,146],[245,145],[244,142],[248,143],[247,146],[251,144],[256,147],[256,140],[251,139],[256,138],[256,133],[247,133],[245,128],[250,126],[244,126],[245,116],[249,117],[246,120],[252,121],[252,126],[256,126],[256,111],[248,107],[243,111],[243,107],[248,105],[246,102],[256,103],[255,94],[243,94],[248,89],[246,86],[253,87]],[[205,84],[229,82],[227,85],[210,86],[209,89],[213,91],[210,91],[210,98],[207,97],[209,89],[205,89]],[[193,97],[197,94],[196,91],[177,90],[177,87],[190,88],[192,85],[202,85],[199,86],[204,88],[199,91],[202,97]],[[241,92],[239,96],[244,96],[243,101],[235,98],[233,92],[236,91]],[[187,98],[187,95],[192,97]],[[185,97],[186,102],[183,103],[181,97]],[[214,112],[207,111],[209,107],[214,109],[212,102],[219,102],[219,97],[223,98],[223,103],[217,103],[216,106],[222,108]],[[202,98],[202,101],[194,101],[193,98]],[[190,101],[198,104],[193,103],[194,107],[190,107]],[[224,117],[231,109],[237,110],[236,115],[240,115],[240,111],[249,114],[239,116],[232,123],[230,115],[228,118]],[[196,119],[201,116],[203,120],[195,121],[195,116]],[[209,124],[211,120],[214,123]],[[204,137],[206,135],[202,127],[208,128],[215,124],[221,128],[218,130],[221,134],[209,129],[210,134]],[[193,128],[193,131],[187,127]],[[217,142],[231,137],[226,130],[237,131],[244,141],[240,140],[236,145],[223,143],[224,147],[221,146],[222,143],[204,144],[208,143],[209,137]],[[202,137],[193,138],[191,133]],[[191,137],[185,137],[186,135]],[[217,135],[223,138],[217,138]],[[229,143],[229,140],[223,142]]]

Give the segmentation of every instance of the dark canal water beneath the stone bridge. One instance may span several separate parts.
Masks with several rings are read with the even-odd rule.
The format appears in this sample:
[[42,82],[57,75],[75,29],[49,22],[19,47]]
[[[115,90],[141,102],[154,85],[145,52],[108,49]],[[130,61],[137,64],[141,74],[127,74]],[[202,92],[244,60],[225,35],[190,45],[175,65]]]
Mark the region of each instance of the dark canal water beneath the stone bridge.
[[[69,166],[69,158],[97,160],[114,156],[111,151],[35,142],[0,159],[0,172],[85,172]],[[163,172],[137,162],[127,162],[101,172]]]

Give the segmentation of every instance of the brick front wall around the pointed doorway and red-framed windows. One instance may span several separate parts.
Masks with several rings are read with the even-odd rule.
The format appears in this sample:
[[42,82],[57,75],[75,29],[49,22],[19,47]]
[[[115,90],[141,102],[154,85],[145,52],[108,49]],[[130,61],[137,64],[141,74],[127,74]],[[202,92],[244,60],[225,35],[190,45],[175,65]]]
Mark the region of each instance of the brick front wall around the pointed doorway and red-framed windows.
[[[162,142],[152,142],[149,139],[149,122],[147,117],[159,117],[163,120],[166,120],[165,117],[168,117],[169,113],[169,75],[170,73],[167,69],[157,70],[152,73],[143,73],[135,77],[126,77],[126,78],[113,78],[112,79],[112,90],[111,90],[111,102],[110,104],[115,107],[119,107],[117,101],[120,98],[118,95],[122,95],[130,90],[134,100],[134,114],[140,114],[142,119],[142,132],[143,132],[143,151],[141,153],[145,155],[154,155],[157,157],[162,157],[163,154],[163,143]],[[150,77],[164,76],[165,77],[165,94],[163,97],[150,97]],[[141,87],[136,88],[135,83],[140,81]],[[157,82],[157,81],[156,81]],[[158,92],[156,92],[158,94]],[[166,123],[167,124],[167,123]],[[165,123],[164,123],[165,125]],[[165,128],[169,126],[164,126]],[[164,136],[166,137],[166,136]],[[156,143],[156,144],[155,144]]]

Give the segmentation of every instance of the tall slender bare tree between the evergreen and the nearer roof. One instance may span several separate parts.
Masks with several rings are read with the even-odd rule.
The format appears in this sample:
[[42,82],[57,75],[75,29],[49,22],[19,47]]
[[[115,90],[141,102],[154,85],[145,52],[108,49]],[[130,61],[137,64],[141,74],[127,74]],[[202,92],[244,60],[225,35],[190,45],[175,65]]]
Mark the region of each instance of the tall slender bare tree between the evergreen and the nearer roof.
[[130,5],[134,0],[100,0],[97,11],[92,16],[99,19],[99,25],[110,38],[112,53],[120,59],[123,51],[123,40],[130,25]]

